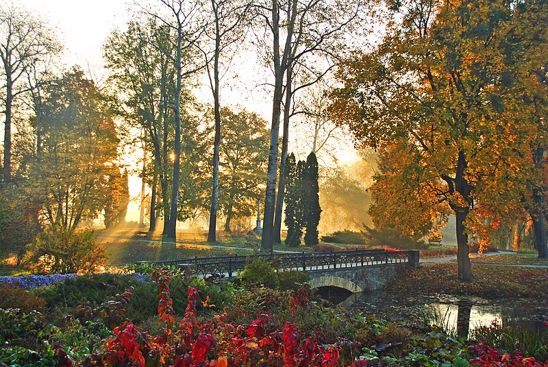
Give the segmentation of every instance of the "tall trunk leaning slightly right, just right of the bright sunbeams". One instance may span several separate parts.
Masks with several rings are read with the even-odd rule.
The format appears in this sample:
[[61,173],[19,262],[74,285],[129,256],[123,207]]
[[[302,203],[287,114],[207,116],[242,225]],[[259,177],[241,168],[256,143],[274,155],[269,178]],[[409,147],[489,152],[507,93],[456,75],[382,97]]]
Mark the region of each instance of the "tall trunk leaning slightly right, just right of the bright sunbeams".
[[181,175],[181,43],[182,26],[177,25],[177,84],[175,86],[175,161],[173,162],[173,184],[171,186],[171,212],[169,214],[169,225],[167,238],[176,240],[175,230],[177,228],[177,203],[179,201],[179,179]]

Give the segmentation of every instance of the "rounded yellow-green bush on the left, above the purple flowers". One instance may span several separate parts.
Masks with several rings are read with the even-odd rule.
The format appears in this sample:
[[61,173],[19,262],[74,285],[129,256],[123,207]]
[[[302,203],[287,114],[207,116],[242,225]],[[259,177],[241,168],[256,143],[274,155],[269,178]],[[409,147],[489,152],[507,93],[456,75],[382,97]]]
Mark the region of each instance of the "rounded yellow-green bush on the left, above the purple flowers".
[[53,226],[36,238],[34,266],[41,273],[92,273],[105,260],[105,250],[90,229]]

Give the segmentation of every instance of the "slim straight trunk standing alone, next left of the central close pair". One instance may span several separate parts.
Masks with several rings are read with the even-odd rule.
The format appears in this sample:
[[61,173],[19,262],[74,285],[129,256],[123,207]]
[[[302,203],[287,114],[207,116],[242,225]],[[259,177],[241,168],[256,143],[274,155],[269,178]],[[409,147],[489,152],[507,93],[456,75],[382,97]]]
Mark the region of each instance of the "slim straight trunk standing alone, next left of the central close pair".
[[[215,140],[213,142],[213,181],[211,192],[210,227],[208,231],[208,242],[217,240],[217,207],[219,205],[219,149],[221,147],[221,107],[219,105],[219,49],[221,38],[219,34],[219,14],[213,5],[215,13],[215,53],[213,60],[213,104],[215,114]],[[226,225],[225,225],[226,231]],[[228,230],[230,231],[230,229]]]

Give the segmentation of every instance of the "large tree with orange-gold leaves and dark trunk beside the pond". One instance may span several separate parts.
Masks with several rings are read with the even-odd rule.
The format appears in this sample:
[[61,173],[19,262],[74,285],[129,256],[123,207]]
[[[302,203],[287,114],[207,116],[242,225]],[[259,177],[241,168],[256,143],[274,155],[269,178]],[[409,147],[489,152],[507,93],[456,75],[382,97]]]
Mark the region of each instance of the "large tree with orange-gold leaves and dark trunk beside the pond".
[[[345,86],[334,94],[333,111],[362,144],[401,158],[390,158],[377,180],[377,198],[399,205],[377,201],[375,218],[410,222],[421,211],[419,221],[453,212],[458,275],[470,281],[466,225],[479,214],[475,203],[503,188],[501,163],[518,154],[509,126],[530,126],[516,118],[512,97],[520,73],[508,58],[512,6],[483,0],[389,5],[402,10],[401,23],[374,51],[356,52],[341,65]],[[411,214],[390,215],[402,205]]]

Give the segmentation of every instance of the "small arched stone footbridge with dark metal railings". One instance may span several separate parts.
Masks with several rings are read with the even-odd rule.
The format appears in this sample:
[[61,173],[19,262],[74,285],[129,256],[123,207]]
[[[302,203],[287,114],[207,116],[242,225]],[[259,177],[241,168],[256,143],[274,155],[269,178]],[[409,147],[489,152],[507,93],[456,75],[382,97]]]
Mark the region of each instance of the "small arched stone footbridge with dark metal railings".
[[399,266],[419,266],[419,251],[351,250],[317,253],[269,253],[219,257],[194,257],[167,262],[137,262],[173,266],[199,277],[232,280],[246,264],[262,259],[275,262],[279,270],[305,271],[310,288],[337,287],[352,293],[380,289]]

